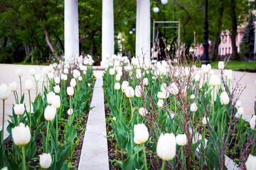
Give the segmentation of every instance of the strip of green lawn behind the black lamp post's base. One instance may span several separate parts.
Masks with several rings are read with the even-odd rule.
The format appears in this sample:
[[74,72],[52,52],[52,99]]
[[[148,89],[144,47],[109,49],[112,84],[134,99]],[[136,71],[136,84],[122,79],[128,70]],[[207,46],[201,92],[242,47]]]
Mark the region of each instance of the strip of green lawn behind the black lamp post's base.
[[[210,62],[213,69],[218,69],[218,61],[217,62]],[[225,65],[225,69],[233,69],[233,70],[256,70],[256,62],[237,62],[237,61],[230,61],[228,64]]]

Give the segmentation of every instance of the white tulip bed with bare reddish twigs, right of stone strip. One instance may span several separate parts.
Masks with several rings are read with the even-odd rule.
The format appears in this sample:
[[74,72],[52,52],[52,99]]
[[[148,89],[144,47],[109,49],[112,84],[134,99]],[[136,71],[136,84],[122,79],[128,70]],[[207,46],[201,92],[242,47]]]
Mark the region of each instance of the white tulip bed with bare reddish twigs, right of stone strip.
[[115,150],[110,163],[120,169],[225,169],[228,154],[250,169],[255,115],[250,124],[241,118],[240,80],[232,79],[224,62],[220,76],[210,64],[183,63],[185,57],[131,63],[110,58],[104,76],[109,146]]

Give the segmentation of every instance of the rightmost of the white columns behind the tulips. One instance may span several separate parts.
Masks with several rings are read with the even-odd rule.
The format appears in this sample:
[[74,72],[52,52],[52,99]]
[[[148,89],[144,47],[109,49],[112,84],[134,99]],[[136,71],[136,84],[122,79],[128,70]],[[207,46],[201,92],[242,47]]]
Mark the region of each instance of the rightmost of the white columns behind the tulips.
[[150,60],[150,0],[137,0],[137,4],[138,1],[140,2],[137,6],[137,8],[139,7],[139,30],[137,30],[139,31],[139,50],[137,50],[137,57],[142,58],[143,52],[145,60]]

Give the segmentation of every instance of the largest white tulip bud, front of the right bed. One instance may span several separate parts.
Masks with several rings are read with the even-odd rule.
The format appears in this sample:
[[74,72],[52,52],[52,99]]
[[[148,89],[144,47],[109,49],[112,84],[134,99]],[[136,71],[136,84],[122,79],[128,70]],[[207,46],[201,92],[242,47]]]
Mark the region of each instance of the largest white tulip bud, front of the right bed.
[[174,159],[176,155],[176,139],[173,133],[160,135],[156,145],[156,153],[163,160]]

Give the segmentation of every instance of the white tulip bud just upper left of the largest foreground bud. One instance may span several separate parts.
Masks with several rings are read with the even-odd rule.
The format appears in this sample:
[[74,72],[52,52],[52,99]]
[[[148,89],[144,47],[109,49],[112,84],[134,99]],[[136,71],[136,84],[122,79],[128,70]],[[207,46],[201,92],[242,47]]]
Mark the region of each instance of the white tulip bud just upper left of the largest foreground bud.
[[136,144],[142,144],[149,139],[149,131],[146,125],[138,124],[134,125],[134,139],[136,139]]

